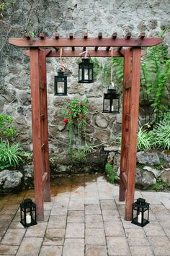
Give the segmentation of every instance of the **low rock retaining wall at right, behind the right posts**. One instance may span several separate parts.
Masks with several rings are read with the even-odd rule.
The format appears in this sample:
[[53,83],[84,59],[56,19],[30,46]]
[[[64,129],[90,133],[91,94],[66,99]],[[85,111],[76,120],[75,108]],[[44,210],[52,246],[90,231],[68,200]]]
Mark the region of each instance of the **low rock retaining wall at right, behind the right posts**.
[[[112,165],[116,180],[120,180],[120,148],[105,147],[107,162]],[[135,184],[140,188],[148,188],[156,182],[164,182],[170,187],[170,152],[167,151],[139,151],[135,172]]]

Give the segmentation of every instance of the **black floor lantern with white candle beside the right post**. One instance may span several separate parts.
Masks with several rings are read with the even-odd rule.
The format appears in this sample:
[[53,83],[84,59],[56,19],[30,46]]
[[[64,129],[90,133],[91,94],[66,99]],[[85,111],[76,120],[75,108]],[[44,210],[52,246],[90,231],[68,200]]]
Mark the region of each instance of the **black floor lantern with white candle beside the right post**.
[[149,203],[143,198],[138,198],[133,203],[133,221],[138,226],[146,226],[149,223]]

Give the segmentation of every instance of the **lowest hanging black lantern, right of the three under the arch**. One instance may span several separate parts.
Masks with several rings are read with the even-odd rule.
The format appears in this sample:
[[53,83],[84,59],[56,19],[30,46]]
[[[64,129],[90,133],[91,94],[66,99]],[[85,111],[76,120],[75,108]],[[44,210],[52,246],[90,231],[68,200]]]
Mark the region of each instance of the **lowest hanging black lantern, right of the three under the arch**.
[[120,94],[116,93],[115,89],[108,89],[103,97],[103,112],[104,113],[120,113]]

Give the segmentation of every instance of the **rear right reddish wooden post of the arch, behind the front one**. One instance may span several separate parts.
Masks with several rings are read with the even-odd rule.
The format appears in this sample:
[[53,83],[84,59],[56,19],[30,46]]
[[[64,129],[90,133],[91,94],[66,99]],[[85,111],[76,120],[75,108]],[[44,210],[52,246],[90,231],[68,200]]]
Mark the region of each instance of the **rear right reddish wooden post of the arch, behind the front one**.
[[127,90],[127,84],[131,82],[131,51],[126,50],[124,55],[124,82],[123,82],[123,106],[122,106],[122,145],[120,161],[120,201],[125,201],[126,187],[123,179],[123,173],[126,173],[128,158],[128,139],[129,139],[129,121],[126,115],[130,113],[130,90]]

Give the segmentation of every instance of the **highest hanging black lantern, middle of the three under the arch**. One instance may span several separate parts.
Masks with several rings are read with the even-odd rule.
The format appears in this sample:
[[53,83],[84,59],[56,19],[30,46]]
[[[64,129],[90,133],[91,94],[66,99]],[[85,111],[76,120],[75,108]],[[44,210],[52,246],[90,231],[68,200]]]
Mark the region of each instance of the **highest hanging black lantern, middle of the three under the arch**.
[[79,63],[79,82],[93,82],[93,63],[90,62],[89,58],[82,58],[81,63]]

